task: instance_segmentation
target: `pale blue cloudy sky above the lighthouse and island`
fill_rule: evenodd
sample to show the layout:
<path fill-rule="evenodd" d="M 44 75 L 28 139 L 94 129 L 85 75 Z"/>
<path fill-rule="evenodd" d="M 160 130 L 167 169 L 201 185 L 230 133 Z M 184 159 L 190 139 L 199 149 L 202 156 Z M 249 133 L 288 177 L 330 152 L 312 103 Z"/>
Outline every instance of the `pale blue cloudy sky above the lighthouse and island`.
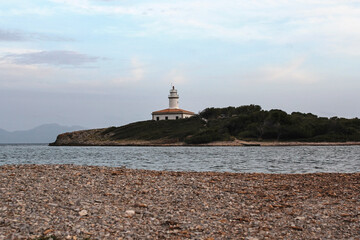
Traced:
<path fill-rule="evenodd" d="M 168 107 L 360 117 L 359 0 L 0 1 L 0 128 Z"/>

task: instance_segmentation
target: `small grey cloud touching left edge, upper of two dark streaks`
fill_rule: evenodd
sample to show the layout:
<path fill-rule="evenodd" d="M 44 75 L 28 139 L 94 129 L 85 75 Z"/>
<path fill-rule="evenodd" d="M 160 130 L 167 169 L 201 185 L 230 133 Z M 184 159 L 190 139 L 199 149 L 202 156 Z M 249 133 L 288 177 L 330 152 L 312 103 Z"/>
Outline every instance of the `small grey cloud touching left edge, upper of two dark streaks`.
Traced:
<path fill-rule="evenodd" d="M 57 36 L 54 34 L 0 29 L 0 42 L 24 42 L 24 41 L 68 42 L 73 40 L 70 38 Z"/>

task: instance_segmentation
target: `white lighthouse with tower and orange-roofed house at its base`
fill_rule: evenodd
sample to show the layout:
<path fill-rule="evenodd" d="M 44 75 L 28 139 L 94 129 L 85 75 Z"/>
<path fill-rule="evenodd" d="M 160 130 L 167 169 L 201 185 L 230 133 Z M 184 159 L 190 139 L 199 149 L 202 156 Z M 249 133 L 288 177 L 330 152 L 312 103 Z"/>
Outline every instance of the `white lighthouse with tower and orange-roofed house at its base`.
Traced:
<path fill-rule="evenodd" d="M 176 120 L 181 118 L 189 118 L 195 113 L 179 108 L 179 95 L 173 86 L 169 95 L 169 108 L 152 112 L 152 120 Z"/>

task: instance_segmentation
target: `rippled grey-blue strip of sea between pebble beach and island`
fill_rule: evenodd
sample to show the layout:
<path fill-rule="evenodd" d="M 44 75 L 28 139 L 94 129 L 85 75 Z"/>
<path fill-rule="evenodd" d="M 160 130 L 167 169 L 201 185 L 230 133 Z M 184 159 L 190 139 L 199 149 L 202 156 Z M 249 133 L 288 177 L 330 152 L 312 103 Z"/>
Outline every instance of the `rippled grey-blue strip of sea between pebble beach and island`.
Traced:
<path fill-rule="evenodd" d="M 0 145 L 0 165 L 77 164 L 262 173 L 359 172 L 360 146 L 48 147 Z"/>

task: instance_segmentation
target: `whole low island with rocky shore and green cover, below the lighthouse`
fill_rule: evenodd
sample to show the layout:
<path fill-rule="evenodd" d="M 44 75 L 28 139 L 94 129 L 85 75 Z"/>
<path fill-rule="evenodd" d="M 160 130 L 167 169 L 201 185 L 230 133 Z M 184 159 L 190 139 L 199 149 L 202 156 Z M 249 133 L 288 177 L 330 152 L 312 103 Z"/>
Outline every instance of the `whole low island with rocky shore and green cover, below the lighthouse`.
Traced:
<path fill-rule="evenodd" d="M 360 145 L 360 119 L 318 117 L 259 105 L 206 108 L 190 118 L 149 120 L 60 134 L 50 146 Z"/>

